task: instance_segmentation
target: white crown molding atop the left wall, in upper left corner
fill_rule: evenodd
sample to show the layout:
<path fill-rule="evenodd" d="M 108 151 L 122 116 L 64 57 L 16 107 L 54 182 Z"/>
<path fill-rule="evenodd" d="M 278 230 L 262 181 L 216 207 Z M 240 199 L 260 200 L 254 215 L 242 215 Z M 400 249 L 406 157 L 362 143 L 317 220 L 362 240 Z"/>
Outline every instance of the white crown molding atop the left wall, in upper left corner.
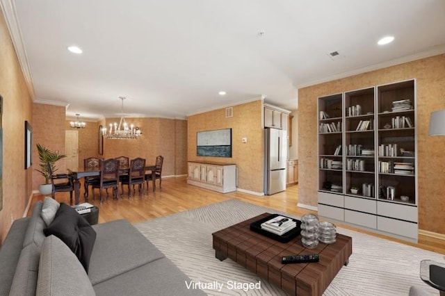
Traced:
<path fill-rule="evenodd" d="M 28 88 L 31 99 L 35 100 L 33 79 L 29 69 L 28 59 L 26 58 L 26 50 L 22 39 L 22 31 L 20 30 L 19 22 L 17 21 L 17 13 L 13 0 L 0 0 L 0 7 L 3 10 L 3 15 L 6 19 L 11 41 L 15 48 L 17 60 L 19 60 L 20 67 Z"/>

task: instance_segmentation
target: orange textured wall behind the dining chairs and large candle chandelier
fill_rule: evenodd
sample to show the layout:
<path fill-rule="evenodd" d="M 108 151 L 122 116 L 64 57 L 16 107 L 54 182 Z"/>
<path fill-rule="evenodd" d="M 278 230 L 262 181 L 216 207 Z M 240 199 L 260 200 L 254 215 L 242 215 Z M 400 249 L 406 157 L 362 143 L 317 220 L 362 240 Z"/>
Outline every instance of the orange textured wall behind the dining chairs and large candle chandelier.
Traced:
<path fill-rule="evenodd" d="M 119 118 L 107 118 L 104 124 L 119 122 Z M 129 124 L 138 126 L 142 135 L 137 140 L 104 139 L 104 158 L 128 156 L 145 158 L 147 164 L 154 164 L 156 156 L 164 157 L 163 176 L 186 174 L 186 151 L 184 137 L 187 124 L 184 120 L 165 118 L 126 118 Z"/>

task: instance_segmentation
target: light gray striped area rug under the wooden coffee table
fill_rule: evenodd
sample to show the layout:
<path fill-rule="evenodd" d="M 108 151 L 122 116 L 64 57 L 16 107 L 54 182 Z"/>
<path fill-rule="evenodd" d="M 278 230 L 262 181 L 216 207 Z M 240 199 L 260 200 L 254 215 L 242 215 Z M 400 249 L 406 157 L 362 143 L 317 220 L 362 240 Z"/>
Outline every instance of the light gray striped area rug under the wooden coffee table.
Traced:
<path fill-rule="evenodd" d="M 195 284 L 208 295 L 286 295 L 231 259 L 219 261 L 212 248 L 211 233 L 266 212 L 280 213 L 231 199 L 135 226 L 191 278 L 186 285 Z M 442 254 L 339 227 L 337 231 L 353 238 L 353 254 L 323 295 L 408 295 L 410 286 L 439 294 L 423 283 L 419 268 L 425 259 L 444 262 Z"/>

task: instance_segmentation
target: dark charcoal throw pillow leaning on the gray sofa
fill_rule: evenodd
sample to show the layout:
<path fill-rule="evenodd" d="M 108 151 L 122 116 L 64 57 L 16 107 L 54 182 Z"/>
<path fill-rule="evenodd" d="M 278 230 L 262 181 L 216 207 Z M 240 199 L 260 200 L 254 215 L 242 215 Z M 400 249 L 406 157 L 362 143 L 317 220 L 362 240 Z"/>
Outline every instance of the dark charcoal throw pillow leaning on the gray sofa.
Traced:
<path fill-rule="evenodd" d="M 65 242 L 88 273 L 96 231 L 74 208 L 67 204 L 60 204 L 54 221 L 49 227 L 43 229 L 43 233 L 45 236 L 51 236 L 51 234 L 57 236 Z"/>

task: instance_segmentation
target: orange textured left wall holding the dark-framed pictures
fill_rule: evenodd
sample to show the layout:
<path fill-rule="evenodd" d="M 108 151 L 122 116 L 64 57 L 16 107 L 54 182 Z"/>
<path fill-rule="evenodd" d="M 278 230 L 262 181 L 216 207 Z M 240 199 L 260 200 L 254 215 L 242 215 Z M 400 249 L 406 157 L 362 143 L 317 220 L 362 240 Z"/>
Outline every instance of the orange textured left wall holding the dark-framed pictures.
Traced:
<path fill-rule="evenodd" d="M 1 10 L 0 44 L 0 95 L 3 97 L 1 245 L 12 221 L 24 215 L 32 194 L 33 178 L 33 167 L 24 169 L 24 121 L 33 121 L 33 103 Z"/>

